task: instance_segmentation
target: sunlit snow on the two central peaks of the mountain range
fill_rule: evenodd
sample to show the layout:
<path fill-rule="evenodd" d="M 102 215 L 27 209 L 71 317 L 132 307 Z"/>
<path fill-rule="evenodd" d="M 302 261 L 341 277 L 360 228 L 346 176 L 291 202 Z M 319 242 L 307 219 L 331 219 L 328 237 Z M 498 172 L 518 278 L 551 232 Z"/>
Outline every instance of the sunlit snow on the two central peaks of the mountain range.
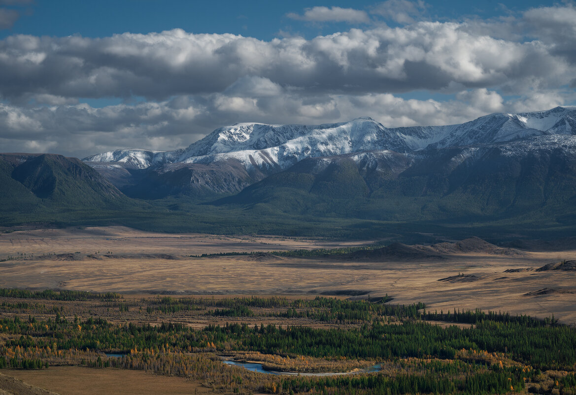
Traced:
<path fill-rule="evenodd" d="M 367 117 L 318 126 L 242 123 L 219 128 L 190 145 L 179 161 L 209 163 L 233 158 L 247 168 L 286 168 L 306 157 L 342 155 L 385 145 L 402 151 L 406 148 L 399 137 Z"/>

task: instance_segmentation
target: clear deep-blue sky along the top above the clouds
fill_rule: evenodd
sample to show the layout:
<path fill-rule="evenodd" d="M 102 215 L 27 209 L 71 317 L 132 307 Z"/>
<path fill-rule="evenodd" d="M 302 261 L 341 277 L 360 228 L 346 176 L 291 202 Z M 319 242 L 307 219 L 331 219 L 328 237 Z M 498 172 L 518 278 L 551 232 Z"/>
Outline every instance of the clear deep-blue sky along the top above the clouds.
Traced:
<path fill-rule="evenodd" d="M 11 34 L 103 37 L 115 33 L 149 33 L 181 28 L 190 33 L 233 33 L 270 40 L 279 32 L 311 38 L 350 28 L 344 23 L 310 23 L 286 17 L 314 6 L 367 10 L 374 1 L 186 1 L 186 0 L 36 0 L 8 5 L 21 16 L 0 37 Z M 437 20 L 494 18 L 530 7 L 550 6 L 543 1 L 443 0 L 427 2 L 427 13 Z M 363 24 L 356 24 L 362 26 Z M 391 23 L 395 25 L 395 23 Z"/>

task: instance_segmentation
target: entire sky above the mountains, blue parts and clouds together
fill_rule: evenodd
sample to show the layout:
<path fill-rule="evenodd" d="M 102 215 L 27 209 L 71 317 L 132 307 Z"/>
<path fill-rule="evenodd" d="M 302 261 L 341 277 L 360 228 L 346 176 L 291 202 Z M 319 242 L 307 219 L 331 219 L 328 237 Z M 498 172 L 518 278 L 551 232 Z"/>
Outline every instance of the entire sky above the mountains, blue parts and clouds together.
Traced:
<path fill-rule="evenodd" d="M 0 0 L 0 152 L 574 105 L 573 1 Z"/>

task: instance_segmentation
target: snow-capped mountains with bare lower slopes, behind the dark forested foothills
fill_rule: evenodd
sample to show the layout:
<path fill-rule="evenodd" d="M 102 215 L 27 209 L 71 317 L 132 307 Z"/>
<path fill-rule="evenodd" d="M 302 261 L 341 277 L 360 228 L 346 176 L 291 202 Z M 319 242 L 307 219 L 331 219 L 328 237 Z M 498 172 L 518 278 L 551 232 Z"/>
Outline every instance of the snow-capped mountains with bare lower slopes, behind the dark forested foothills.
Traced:
<path fill-rule="evenodd" d="M 498 152 L 486 149 L 494 147 Z M 124 193 L 158 198 L 237 193 L 294 165 L 305 163 L 298 168 L 308 171 L 313 163 L 309 171 L 318 171 L 338 157 L 362 171 L 392 176 L 415 169 L 445 173 L 473 161 L 486 164 L 487 152 L 521 158 L 544 147 L 545 155 L 556 148 L 576 151 L 576 107 L 490 114 L 448 126 L 388 128 L 371 118 L 313 126 L 238 123 L 188 148 L 118 149 L 83 160 Z M 312 159 L 322 161 L 305 162 Z"/>

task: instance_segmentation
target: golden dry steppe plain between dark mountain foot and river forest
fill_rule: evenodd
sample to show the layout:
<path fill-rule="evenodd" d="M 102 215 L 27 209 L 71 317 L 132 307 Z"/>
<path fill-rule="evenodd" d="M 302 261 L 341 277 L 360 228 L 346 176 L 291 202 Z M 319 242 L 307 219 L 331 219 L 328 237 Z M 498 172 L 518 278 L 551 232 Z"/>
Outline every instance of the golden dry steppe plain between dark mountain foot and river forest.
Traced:
<path fill-rule="evenodd" d="M 365 298 L 388 294 L 394 298 L 393 303 L 424 302 L 428 310 L 479 308 L 536 317 L 554 314 L 560 322 L 576 323 L 574 270 L 535 271 L 546 264 L 576 259 L 576 245 L 570 243 L 529 251 L 447 250 L 441 257 L 422 258 L 403 255 L 401 251 L 385 257 L 192 256 L 330 249 L 374 241 L 170 235 L 125 227 L 22 229 L 0 234 L 0 259 L 17 257 L 0 262 L 0 287 L 114 291 L 127 296 Z"/>

